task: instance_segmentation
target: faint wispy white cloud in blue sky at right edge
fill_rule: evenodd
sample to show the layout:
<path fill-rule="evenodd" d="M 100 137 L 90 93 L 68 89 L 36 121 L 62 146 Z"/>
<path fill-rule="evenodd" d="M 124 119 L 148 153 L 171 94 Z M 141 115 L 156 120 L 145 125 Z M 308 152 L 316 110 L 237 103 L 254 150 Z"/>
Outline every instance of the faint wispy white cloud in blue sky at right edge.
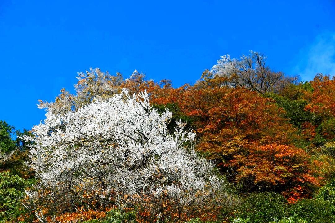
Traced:
<path fill-rule="evenodd" d="M 293 69 L 302 81 L 313 79 L 317 73 L 335 75 L 335 32 L 318 35 L 314 42 L 301 50 L 299 63 Z"/>

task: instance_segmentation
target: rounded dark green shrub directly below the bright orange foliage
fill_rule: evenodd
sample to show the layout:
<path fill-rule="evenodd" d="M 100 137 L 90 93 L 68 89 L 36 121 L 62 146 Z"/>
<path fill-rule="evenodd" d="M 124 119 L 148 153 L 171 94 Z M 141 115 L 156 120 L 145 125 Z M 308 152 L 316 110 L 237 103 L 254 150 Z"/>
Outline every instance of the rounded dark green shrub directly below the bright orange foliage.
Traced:
<path fill-rule="evenodd" d="M 242 218 L 241 222 L 264 223 L 286 217 L 287 210 L 287 202 L 282 195 L 272 192 L 253 193 L 237 210 L 236 217 Z"/>

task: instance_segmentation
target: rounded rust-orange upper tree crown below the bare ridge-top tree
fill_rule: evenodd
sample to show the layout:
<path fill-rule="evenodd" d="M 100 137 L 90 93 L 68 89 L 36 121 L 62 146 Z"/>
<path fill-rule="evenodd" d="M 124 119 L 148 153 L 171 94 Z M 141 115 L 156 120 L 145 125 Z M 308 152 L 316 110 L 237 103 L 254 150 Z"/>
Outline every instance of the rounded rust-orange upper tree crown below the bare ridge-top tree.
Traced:
<path fill-rule="evenodd" d="M 208 112 L 208 122 L 199 128 L 202 142 L 199 150 L 227 160 L 251 142 L 260 144 L 290 143 L 295 130 L 282 118 L 283 110 L 268 98 L 239 88 L 226 94 Z"/>

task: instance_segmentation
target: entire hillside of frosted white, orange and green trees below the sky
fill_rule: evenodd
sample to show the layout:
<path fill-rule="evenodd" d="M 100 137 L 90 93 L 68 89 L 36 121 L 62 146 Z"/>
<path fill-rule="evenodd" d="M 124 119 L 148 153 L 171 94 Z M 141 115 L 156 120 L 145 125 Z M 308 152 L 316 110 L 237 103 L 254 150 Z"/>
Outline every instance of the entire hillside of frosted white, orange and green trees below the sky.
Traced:
<path fill-rule="evenodd" d="M 0 222 L 335 222 L 335 77 L 251 51 L 177 88 L 77 78 L 32 129 L 0 121 Z"/>

